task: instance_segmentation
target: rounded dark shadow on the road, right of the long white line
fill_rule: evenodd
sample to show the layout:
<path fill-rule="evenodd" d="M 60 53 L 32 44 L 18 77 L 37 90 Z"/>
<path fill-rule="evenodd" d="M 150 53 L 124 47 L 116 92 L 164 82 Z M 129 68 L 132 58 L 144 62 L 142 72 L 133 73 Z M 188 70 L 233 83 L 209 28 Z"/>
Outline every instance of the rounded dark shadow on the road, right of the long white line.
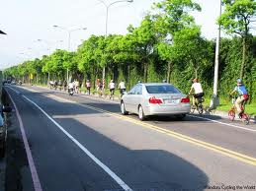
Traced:
<path fill-rule="evenodd" d="M 118 134 L 107 137 L 100 130 L 96 131 L 95 128 L 86 126 L 73 118 L 56 120 L 61 125 L 67 124 L 68 132 L 125 180 L 133 191 L 200 191 L 204 190 L 209 183 L 208 176 L 202 169 L 170 152 L 131 150 L 124 143 L 110 139 Z M 132 142 L 141 142 L 132 136 L 128 139 Z M 88 190 L 98 190 L 97 185 L 101 185 L 101 190 L 104 191 L 120 190 L 108 184 L 106 181 L 91 182 L 91 189 Z"/>

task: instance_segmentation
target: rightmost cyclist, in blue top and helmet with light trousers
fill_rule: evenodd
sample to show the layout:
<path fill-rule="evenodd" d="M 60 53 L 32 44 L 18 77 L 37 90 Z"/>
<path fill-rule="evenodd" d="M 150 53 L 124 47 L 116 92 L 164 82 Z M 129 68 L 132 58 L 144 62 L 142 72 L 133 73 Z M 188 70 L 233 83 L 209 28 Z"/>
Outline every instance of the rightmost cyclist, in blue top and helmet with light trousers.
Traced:
<path fill-rule="evenodd" d="M 230 96 L 232 96 L 234 93 L 238 93 L 238 97 L 236 98 L 234 105 L 235 105 L 239 115 L 241 115 L 243 112 L 243 109 L 241 106 L 246 100 L 249 99 L 249 95 L 248 95 L 248 92 L 247 92 L 245 86 L 242 84 L 241 79 L 237 79 L 236 83 L 237 83 L 237 86 L 230 93 Z"/>

